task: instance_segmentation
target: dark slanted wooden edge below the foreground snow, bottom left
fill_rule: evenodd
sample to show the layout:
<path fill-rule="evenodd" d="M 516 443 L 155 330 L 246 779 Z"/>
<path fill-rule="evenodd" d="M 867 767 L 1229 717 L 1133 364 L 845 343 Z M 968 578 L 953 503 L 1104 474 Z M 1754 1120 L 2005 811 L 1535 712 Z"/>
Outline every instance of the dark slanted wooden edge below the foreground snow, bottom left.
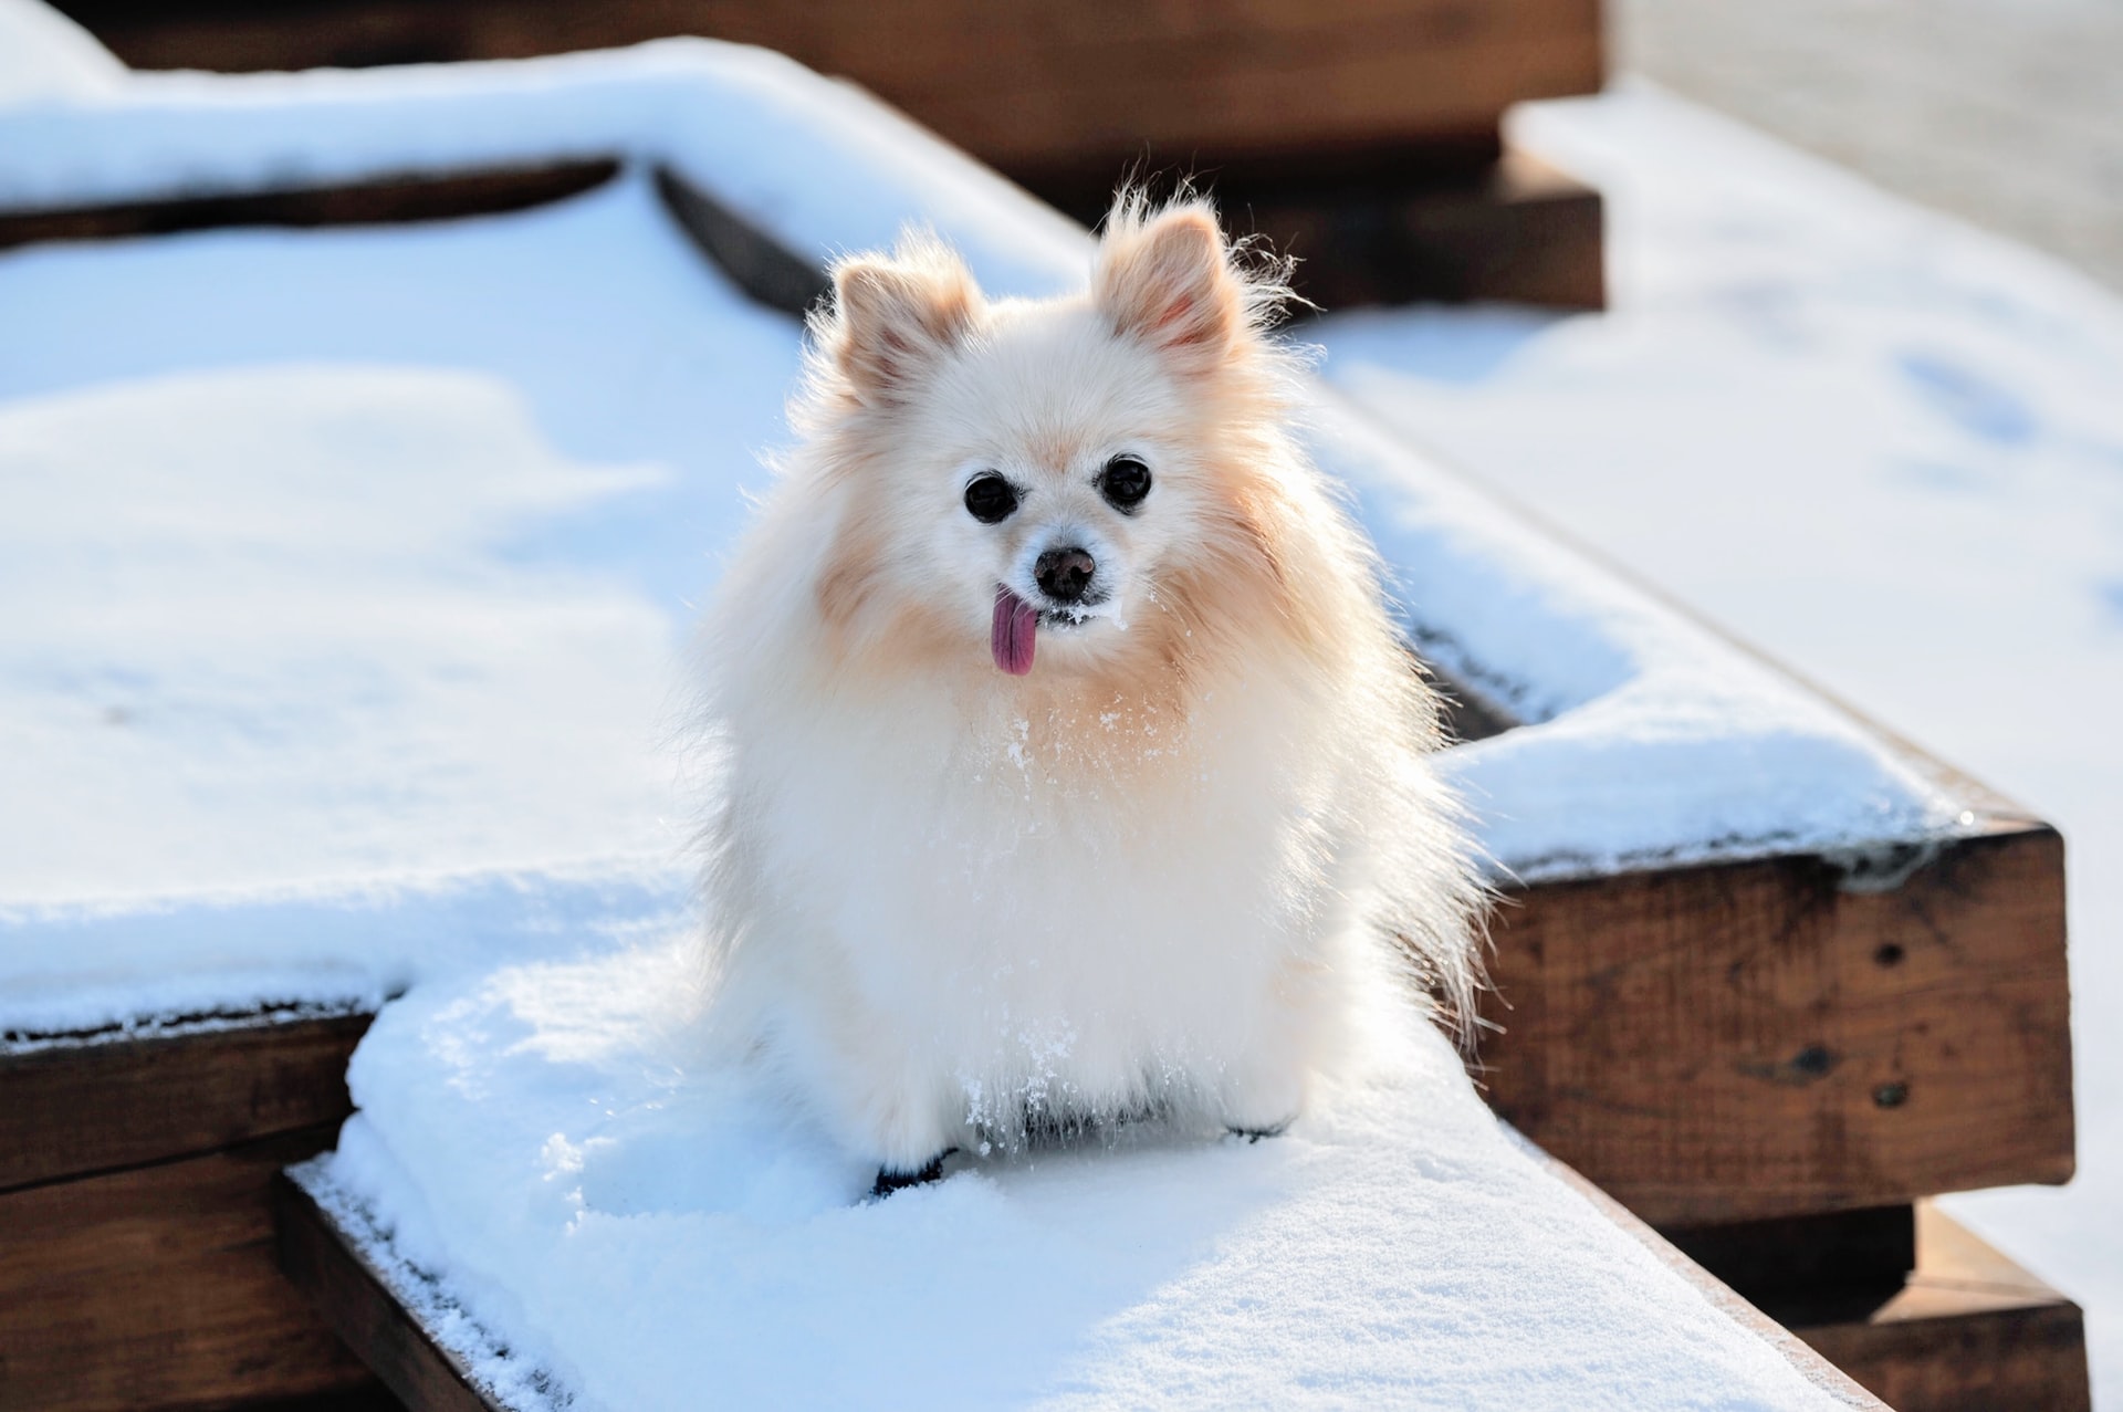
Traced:
<path fill-rule="evenodd" d="M 420 1323 L 405 1293 L 420 1272 L 386 1270 L 325 1210 L 312 1164 L 274 1176 L 274 1253 L 280 1272 L 369 1372 L 412 1412 L 533 1412 L 499 1401 L 469 1363 Z M 376 1234 L 374 1246 L 384 1246 Z"/>

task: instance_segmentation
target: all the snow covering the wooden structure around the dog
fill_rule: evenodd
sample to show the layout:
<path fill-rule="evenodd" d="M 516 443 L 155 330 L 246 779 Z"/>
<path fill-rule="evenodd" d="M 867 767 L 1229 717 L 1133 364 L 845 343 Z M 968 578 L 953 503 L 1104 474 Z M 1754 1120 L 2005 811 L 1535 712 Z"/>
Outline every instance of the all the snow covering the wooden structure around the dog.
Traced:
<path fill-rule="evenodd" d="M 125 81 L 0 110 L 0 202 L 45 206 L 618 153 L 813 257 L 913 214 L 1000 293 L 1087 255 L 860 96 L 711 45 Z M 34 800 L 0 815 L 0 1028 L 410 987 L 316 1189 L 518 1350 L 497 1378 L 690 1406 L 713 1346 L 730 1387 L 826 1399 L 1828 1399 L 1427 1034 L 1282 1142 L 1123 1134 L 864 1208 L 692 1074 L 652 1004 L 688 890 L 662 733 L 796 331 L 639 168 L 456 227 L 28 251 L 0 308 L 0 563 L 36 603 L 0 643 L 36 741 L 0 762 Z M 1323 401 L 1412 637 L 1524 722 L 1454 764 L 1501 866 L 1856 866 L 1981 826 L 1979 792 Z"/>

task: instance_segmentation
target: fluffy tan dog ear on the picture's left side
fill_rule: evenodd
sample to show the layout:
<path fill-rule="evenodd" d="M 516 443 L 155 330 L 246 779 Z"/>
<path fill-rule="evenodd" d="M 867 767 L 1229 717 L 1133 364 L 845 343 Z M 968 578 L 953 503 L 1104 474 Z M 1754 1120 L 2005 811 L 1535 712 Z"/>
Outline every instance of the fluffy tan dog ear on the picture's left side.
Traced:
<path fill-rule="evenodd" d="M 856 255 L 832 268 L 834 316 L 826 344 L 856 397 L 890 406 L 972 329 L 981 291 L 940 244 L 898 255 Z"/>

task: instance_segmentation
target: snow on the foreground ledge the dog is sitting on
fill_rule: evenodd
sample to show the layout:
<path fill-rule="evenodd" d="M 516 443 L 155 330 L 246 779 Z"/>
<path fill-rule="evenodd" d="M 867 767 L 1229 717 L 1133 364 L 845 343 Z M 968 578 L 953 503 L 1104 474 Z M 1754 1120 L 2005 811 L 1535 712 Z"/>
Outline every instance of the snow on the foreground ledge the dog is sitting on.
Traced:
<path fill-rule="evenodd" d="M 692 1408 L 703 1378 L 773 1406 L 1839 1406 L 1514 1142 L 1425 1026 L 1380 1019 L 1276 1140 L 1121 1130 L 862 1204 L 868 1168 L 692 1062 L 686 964 L 416 989 L 306 1174 L 514 1406 Z"/>

